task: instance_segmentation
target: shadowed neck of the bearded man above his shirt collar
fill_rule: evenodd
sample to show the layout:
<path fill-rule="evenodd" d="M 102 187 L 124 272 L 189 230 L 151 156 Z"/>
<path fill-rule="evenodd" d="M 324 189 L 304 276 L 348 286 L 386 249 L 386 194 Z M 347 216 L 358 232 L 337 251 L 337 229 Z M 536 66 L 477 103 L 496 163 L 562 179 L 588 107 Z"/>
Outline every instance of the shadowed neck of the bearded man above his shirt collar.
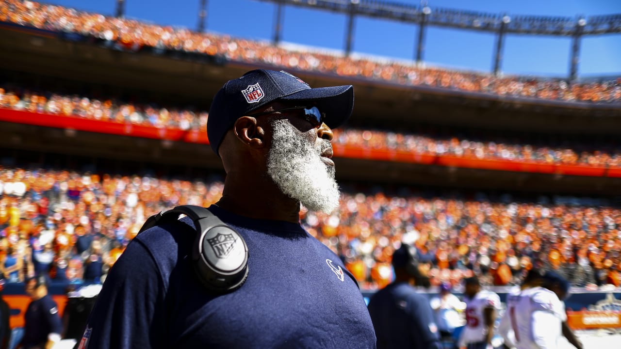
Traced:
<path fill-rule="evenodd" d="M 222 197 L 216 203 L 229 212 L 254 219 L 299 223 L 300 203 L 283 194 L 266 176 L 228 173 Z"/>

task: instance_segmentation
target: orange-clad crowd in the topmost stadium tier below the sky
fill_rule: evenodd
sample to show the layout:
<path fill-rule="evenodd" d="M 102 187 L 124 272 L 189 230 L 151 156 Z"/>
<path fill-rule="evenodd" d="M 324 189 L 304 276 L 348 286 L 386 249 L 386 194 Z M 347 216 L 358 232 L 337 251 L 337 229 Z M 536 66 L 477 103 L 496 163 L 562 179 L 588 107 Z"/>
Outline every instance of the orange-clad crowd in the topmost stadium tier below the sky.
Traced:
<path fill-rule="evenodd" d="M 134 52 L 150 47 L 201 53 L 288 70 L 507 97 L 588 102 L 619 102 L 621 99 L 621 78 L 569 84 L 562 79 L 495 77 L 486 73 L 417 66 L 388 58 L 347 57 L 343 53 L 330 53 L 327 50 L 285 48 L 270 42 L 202 34 L 189 29 L 147 24 L 34 1 L 3 0 L 0 2 L 0 21 L 93 37 L 111 47 Z"/>

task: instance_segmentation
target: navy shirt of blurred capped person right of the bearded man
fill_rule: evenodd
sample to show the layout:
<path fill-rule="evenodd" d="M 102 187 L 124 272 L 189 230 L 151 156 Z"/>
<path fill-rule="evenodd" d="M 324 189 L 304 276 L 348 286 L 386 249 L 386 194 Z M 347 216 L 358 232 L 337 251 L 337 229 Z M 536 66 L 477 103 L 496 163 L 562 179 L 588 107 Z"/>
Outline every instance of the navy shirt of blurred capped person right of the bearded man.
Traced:
<path fill-rule="evenodd" d="M 429 299 L 407 283 L 392 283 L 369 301 L 378 349 L 441 349 Z"/>

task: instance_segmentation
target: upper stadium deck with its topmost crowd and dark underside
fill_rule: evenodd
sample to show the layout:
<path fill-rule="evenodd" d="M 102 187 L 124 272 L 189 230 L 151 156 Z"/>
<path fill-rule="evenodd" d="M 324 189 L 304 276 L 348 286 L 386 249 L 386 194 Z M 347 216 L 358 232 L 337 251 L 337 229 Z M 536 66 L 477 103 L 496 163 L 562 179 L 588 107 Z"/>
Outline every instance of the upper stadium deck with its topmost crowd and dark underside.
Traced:
<path fill-rule="evenodd" d="M 288 50 L 282 45 L 197 34 L 29 1 L 0 2 L 0 18 L 4 19 L 0 20 L 0 60 L 7 70 L 59 81 L 73 79 L 83 86 L 95 83 L 115 90 L 133 89 L 151 94 L 152 101 L 174 99 L 207 110 L 212 96 L 231 76 L 253 68 L 286 69 L 314 87 L 353 84 L 356 107 L 350 122 L 360 120 L 381 125 L 381 129 L 433 124 L 570 137 L 621 132 L 619 81 L 497 80 L 487 74 Z M 132 41 L 136 35 L 132 30 L 141 34 L 135 38 L 138 42 Z M 359 71 L 364 66 L 370 75 Z M 463 89 L 462 83 L 486 87 Z M 565 91 L 567 99 L 558 99 L 560 95 L 553 91 Z M 586 101 L 586 95 L 594 91 L 598 97 Z M 579 100 L 578 94 L 585 100 Z"/>

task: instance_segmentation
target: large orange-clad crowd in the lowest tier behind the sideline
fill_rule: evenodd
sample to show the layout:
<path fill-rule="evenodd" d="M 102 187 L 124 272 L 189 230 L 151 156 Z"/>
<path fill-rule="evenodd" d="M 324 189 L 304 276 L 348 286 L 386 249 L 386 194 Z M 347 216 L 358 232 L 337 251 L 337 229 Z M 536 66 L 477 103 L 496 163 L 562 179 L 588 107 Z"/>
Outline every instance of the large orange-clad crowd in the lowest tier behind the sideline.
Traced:
<path fill-rule="evenodd" d="M 99 282 L 144 220 L 179 204 L 209 206 L 219 179 L 188 181 L 0 167 L 0 271 L 23 281 L 48 273 L 64 283 Z M 430 196 L 402 188 L 343 190 L 331 215 L 301 211 L 311 235 L 332 248 L 366 289 L 391 281 L 401 241 L 417 247 L 430 283 L 516 283 L 532 266 L 574 284 L 620 284 L 621 209 Z"/>

